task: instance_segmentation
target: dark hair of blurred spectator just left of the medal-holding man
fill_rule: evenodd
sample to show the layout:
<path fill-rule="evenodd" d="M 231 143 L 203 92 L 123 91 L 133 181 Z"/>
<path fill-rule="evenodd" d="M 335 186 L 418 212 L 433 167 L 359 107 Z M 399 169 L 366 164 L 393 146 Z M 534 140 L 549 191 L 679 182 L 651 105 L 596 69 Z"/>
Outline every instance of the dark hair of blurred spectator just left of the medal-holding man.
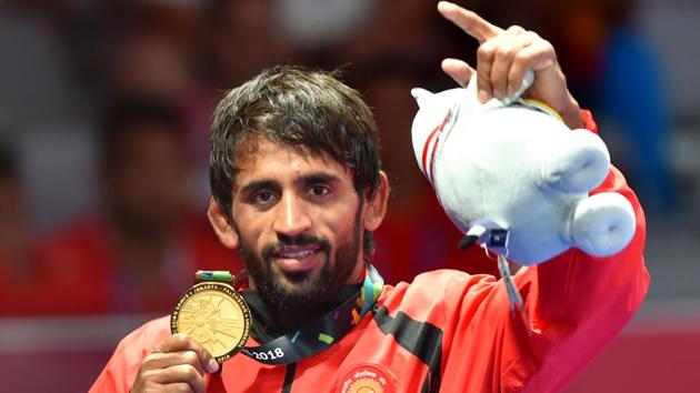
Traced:
<path fill-rule="evenodd" d="M 103 170 L 114 167 L 123 153 L 123 143 L 139 125 L 160 124 L 159 132 L 187 139 L 182 114 L 174 107 L 153 99 L 124 97 L 114 100 L 102 118 L 99 140 Z"/>

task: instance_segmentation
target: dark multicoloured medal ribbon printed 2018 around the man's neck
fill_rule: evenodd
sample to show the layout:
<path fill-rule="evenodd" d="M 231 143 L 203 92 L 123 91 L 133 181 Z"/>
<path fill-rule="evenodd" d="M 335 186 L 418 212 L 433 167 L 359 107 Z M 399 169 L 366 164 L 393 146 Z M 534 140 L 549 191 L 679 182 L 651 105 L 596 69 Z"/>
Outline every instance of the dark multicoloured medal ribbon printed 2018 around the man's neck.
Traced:
<path fill-rule="evenodd" d="M 197 272 L 198 281 L 231 282 L 232 279 L 229 272 Z M 264 364 L 289 364 L 313 356 L 340 341 L 362 320 L 379 299 L 383 285 L 377 269 L 368 263 L 362 288 L 342 304 L 297 331 L 259 346 L 246 346 L 241 353 Z"/>

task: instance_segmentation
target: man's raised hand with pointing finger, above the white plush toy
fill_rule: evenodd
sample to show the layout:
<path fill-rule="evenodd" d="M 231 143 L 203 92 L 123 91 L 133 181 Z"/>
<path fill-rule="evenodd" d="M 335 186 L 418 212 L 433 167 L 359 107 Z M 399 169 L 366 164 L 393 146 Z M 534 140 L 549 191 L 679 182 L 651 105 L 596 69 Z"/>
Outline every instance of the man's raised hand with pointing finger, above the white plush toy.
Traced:
<path fill-rule="evenodd" d="M 460 85 L 466 85 L 477 72 L 479 101 L 512 94 L 520 88 L 526 71 L 531 69 L 534 82 L 524 97 L 550 105 L 569 128 L 582 127 L 579 104 L 567 88 L 567 79 L 549 41 L 519 26 L 503 30 L 476 12 L 447 1 L 438 3 L 438 11 L 480 43 L 477 70 L 462 60 L 442 61 L 442 70 Z"/>

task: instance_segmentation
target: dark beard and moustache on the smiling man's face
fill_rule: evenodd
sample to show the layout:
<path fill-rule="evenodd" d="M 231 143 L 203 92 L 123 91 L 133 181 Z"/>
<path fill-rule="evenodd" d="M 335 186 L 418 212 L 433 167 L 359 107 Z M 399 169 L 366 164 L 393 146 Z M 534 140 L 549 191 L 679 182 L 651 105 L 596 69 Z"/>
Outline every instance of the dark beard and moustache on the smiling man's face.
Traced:
<path fill-rule="evenodd" d="M 247 246 L 238 226 L 233 225 L 240 239 L 239 254 L 262 300 L 278 310 L 309 310 L 322 305 L 337 293 L 358 263 L 362 234 L 361 211 L 360 205 L 352 233 L 338 236 L 341 243 L 334 252 L 328 239 L 301 234 L 293 238 L 280 235 L 278 242 L 263 246 L 257 253 Z M 307 272 L 277 269 L 273 254 L 290 245 L 316 245 L 323 259 L 320 269 Z"/>

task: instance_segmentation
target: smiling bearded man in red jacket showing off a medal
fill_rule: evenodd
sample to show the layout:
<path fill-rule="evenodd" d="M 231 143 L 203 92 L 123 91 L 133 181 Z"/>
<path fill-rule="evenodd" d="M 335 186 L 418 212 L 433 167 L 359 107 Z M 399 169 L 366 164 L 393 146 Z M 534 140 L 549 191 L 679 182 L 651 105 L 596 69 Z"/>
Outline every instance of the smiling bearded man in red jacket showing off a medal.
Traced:
<path fill-rule="evenodd" d="M 451 3 L 438 8 L 481 41 L 477 70 L 443 62 L 459 83 L 478 72 L 480 99 L 502 98 L 530 68 L 532 98 L 571 128 L 594 128 L 547 41 L 517 27 L 503 31 Z M 366 258 L 389 187 L 370 111 L 357 92 L 326 73 L 268 70 L 227 94 L 212 130 L 209 219 L 249 271 L 249 344 L 303 329 L 352 299 L 368 278 L 374 282 Z M 614 170 L 600 190 L 632 202 L 634 239 L 614 258 L 570 250 L 523 269 L 514 278 L 523 318 L 509 313 L 507 291 L 492 276 L 434 271 L 383 286 L 347 335 L 283 365 L 244 354 L 218 365 L 193 340 L 170 335 L 167 319 L 152 321 L 120 343 L 93 391 L 558 390 L 619 332 L 648 285 L 639 203 Z"/>

